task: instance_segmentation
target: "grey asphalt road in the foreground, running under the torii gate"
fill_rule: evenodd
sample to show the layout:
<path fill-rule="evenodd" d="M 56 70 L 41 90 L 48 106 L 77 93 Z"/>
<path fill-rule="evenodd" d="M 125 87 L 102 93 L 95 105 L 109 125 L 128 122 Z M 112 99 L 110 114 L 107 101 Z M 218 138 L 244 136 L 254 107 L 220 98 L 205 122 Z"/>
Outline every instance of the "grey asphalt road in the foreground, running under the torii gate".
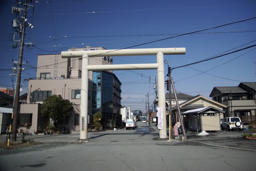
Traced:
<path fill-rule="evenodd" d="M 68 136 L 79 137 L 62 135 Z M 148 124 L 138 123 L 135 130 L 91 133 L 88 137 L 91 138 L 88 143 L 45 143 L 22 149 L 0 149 L 1 170 L 255 171 L 256 168 L 256 152 L 193 142 L 157 141 L 158 133 Z"/>

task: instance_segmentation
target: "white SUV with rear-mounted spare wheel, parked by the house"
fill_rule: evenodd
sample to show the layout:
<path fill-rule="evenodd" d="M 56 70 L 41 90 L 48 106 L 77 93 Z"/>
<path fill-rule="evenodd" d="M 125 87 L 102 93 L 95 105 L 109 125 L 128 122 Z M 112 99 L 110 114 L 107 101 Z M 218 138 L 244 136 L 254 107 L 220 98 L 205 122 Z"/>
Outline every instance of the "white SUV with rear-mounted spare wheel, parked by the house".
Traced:
<path fill-rule="evenodd" d="M 242 121 L 239 117 L 227 117 L 224 119 L 223 123 L 221 124 L 221 129 L 227 129 L 228 131 L 238 129 L 243 129 Z"/>

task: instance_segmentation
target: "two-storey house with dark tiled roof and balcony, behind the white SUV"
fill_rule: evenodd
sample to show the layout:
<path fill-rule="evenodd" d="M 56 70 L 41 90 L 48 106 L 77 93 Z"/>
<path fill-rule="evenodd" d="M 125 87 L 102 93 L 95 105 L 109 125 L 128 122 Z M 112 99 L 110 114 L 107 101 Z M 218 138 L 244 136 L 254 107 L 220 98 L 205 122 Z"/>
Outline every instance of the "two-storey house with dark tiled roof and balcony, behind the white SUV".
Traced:
<path fill-rule="evenodd" d="M 227 106 L 225 117 L 240 117 L 244 123 L 256 120 L 256 82 L 241 82 L 234 87 L 214 87 L 210 97 Z"/>

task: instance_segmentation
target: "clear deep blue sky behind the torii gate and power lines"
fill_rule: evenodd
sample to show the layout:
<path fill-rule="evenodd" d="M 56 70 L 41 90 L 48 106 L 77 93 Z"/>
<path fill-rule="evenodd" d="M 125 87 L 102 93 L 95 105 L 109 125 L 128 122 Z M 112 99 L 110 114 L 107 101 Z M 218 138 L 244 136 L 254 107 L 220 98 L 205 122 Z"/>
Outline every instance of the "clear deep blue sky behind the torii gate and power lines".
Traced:
<path fill-rule="evenodd" d="M 67 48 L 87 45 L 119 49 L 173 36 L 161 34 L 181 34 L 256 16 L 256 1 L 254 0 L 51 0 L 51 3 L 50 1 L 46 2 L 40 0 L 39 3 L 34 3 L 33 20 L 30 18 L 32 17 L 32 10 L 28 11 L 28 14 L 30 14 L 27 16 L 28 21 L 31 22 L 32 20 L 31 23 L 34 28 L 27 29 L 25 42 L 34 42 L 36 47 L 44 50 L 35 47 L 25 48 L 24 57 L 32 66 L 37 65 L 38 54 L 52 54 L 53 49 L 59 50 L 59 53 Z M 2 21 L 0 28 L 1 69 L 10 69 L 12 59 L 17 60 L 17 49 L 11 49 L 10 44 L 13 42 L 7 41 L 10 40 L 9 34 L 13 33 L 11 21 L 15 17 L 11 13 L 12 6 L 16 5 L 0 2 L 0 18 Z M 212 33 L 238 30 L 246 32 Z M 209 58 L 256 40 L 255 31 L 256 20 L 252 20 L 204 31 L 207 34 L 186 35 L 134 48 L 186 47 L 186 55 L 166 55 L 164 57 L 165 60 L 169 60 L 171 67 L 177 67 Z M 146 34 L 154 35 L 145 36 Z M 117 35 L 122 36 L 116 37 Z M 56 39 L 65 36 L 70 38 L 53 41 L 55 36 Z M 240 48 L 253 44 L 256 44 L 256 41 Z M 60 50 L 61 48 L 64 49 Z M 255 82 L 256 50 L 252 49 L 191 65 L 190 67 L 193 68 L 174 69 L 171 76 L 175 81 L 176 91 L 190 95 L 202 94 L 209 97 L 213 87 L 237 86 L 240 81 Z M 250 50 L 252 51 L 248 52 Z M 232 60 L 244 53 L 246 54 Z M 218 77 L 206 74 L 191 77 L 199 74 L 195 69 L 204 72 L 229 60 L 232 61 L 207 72 Z M 155 62 L 156 56 L 113 57 L 113 64 Z M 25 72 L 22 73 L 22 82 L 24 79 L 36 76 L 35 69 L 25 70 Z M 165 65 L 165 72 L 167 74 L 167 64 Z M 0 86 L 12 87 L 10 71 L 0 71 L 0 73 Z M 147 93 L 149 93 L 149 105 L 152 105 L 155 98 L 153 83 L 155 82 L 154 77 L 157 76 L 156 70 L 114 71 L 113 73 L 122 82 L 122 105 L 131 105 L 132 109 L 144 112 L 147 98 L 145 95 Z M 148 77 L 152 77 L 150 82 Z M 26 93 L 27 84 L 28 81 L 25 81 L 22 93 Z"/>

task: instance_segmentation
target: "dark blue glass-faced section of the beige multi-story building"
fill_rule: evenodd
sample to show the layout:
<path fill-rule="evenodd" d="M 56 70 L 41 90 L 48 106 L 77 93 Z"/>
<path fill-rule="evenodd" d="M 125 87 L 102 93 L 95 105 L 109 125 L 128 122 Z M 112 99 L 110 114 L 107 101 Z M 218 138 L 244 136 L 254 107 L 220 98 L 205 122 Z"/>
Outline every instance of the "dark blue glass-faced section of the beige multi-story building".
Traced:
<path fill-rule="evenodd" d="M 108 71 L 93 72 L 92 114 L 102 113 L 103 128 L 121 127 L 121 82 Z"/>

